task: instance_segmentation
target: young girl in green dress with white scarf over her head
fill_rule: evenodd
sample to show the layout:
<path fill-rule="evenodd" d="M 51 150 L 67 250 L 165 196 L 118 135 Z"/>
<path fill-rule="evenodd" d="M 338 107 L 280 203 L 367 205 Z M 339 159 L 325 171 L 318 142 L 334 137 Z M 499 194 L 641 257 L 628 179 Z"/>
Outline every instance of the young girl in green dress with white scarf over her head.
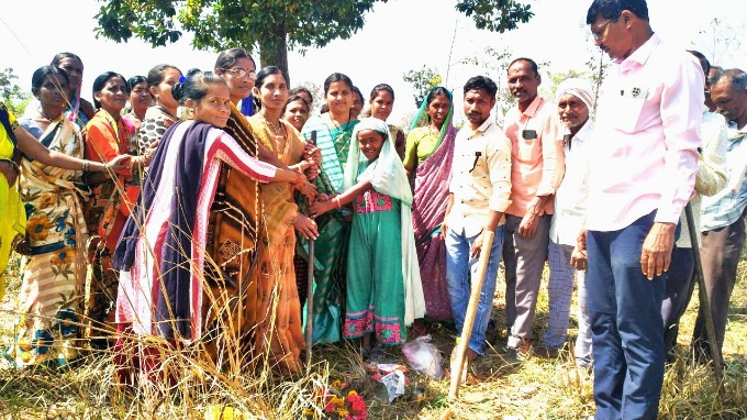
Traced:
<path fill-rule="evenodd" d="M 425 313 L 415 242 L 412 191 L 387 124 L 374 118 L 356 125 L 345 167 L 345 192 L 321 197 L 310 210 L 323 214 L 353 203 L 344 335 L 401 344 L 406 327 Z"/>

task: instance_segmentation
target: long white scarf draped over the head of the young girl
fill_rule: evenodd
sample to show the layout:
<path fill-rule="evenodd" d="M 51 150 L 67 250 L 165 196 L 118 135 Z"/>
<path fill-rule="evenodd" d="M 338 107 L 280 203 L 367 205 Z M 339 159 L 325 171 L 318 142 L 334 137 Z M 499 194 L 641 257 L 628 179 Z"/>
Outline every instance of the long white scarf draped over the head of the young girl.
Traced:
<path fill-rule="evenodd" d="M 369 163 L 360 152 L 358 133 L 374 130 L 383 135 L 383 145 L 379 157 Z M 366 169 L 358 175 L 360 168 Z M 425 297 L 420 277 L 417 252 L 415 251 L 415 234 L 412 229 L 412 190 L 408 181 L 404 165 L 397 154 L 394 143 L 389 135 L 387 123 L 375 119 L 364 118 L 353 130 L 350 151 L 345 165 L 345 189 L 359 181 L 368 180 L 377 192 L 400 200 L 401 243 L 402 243 L 402 279 L 404 287 L 404 323 L 410 325 L 415 319 L 425 317 Z"/>

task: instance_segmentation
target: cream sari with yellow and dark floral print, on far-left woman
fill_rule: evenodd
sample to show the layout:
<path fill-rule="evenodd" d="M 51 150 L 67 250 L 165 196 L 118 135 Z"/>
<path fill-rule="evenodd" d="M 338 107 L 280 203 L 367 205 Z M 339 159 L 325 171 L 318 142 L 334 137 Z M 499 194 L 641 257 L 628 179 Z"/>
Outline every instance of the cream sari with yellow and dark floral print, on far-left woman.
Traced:
<path fill-rule="evenodd" d="M 47 148 L 82 158 L 80 133 L 69 120 L 57 119 L 44 131 L 33 120 L 21 123 Z M 80 346 L 76 324 L 80 322 L 88 239 L 79 198 L 87 194 L 78 184 L 82 172 L 29 158 L 21 166 L 31 251 L 18 297 L 15 339 L 7 356 L 18 367 L 47 361 L 64 365 L 77 356 Z"/>

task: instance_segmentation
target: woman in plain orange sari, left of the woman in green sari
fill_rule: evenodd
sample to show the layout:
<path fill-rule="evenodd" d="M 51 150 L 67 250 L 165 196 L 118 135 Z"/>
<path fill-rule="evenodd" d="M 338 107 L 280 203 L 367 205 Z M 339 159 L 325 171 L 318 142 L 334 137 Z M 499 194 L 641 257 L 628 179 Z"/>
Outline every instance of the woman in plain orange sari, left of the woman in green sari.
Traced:
<path fill-rule="evenodd" d="M 303 172 L 310 166 L 303 159 L 305 143 L 299 132 L 282 119 L 288 86 L 278 67 L 259 70 L 254 97 L 259 99 L 260 110 L 248 119 L 252 134 L 289 168 Z M 301 371 L 303 349 L 301 307 L 293 270 L 296 230 L 311 239 L 316 239 L 319 232 L 313 220 L 299 213 L 291 187 L 287 183 L 260 185 L 264 215 L 256 276 L 259 317 L 255 343 L 260 354 L 268 350 L 269 343 L 270 363 L 277 364 L 283 372 L 296 374 Z"/>

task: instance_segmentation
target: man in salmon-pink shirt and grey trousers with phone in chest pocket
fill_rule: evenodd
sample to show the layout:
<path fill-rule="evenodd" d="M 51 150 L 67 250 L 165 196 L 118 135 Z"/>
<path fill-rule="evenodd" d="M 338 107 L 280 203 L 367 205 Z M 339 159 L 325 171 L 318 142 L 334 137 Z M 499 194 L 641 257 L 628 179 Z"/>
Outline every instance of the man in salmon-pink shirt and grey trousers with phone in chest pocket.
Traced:
<path fill-rule="evenodd" d="M 509 89 L 516 107 L 503 121 L 511 140 L 511 206 L 505 211 L 505 311 L 509 353 L 529 351 L 532 323 L 547 257 L 553 195 L 565 169 L 562 126 L 555 103 L 540 98 L 537 64 L 516 58 L 509 66 Z"/>

